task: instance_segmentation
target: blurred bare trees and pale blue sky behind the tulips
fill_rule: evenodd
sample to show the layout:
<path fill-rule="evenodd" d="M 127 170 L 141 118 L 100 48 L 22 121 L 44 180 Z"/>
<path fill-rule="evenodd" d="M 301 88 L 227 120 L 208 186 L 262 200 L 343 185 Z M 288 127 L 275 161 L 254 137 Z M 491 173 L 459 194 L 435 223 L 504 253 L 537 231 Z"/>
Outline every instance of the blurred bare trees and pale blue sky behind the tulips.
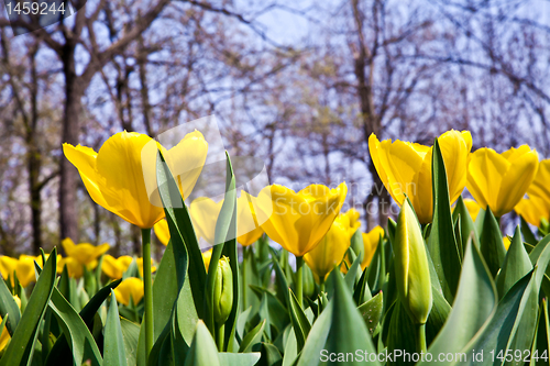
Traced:
<path fill-rule="evenodd" d="M 470 130 L 473 149 L 550 155 L 548 1 L 89 0 L 19 36 L 0 8 L 3 254 L 66 236 L 139 249 L 61 148 L 98 151 L 122 130 L 216 114 L 230 154 L 263 158 L 272 182 L 345 180 L 348 207 L 371 212 L 364 230 L 391 206 L 373 132 L 431 144 Z"/>

